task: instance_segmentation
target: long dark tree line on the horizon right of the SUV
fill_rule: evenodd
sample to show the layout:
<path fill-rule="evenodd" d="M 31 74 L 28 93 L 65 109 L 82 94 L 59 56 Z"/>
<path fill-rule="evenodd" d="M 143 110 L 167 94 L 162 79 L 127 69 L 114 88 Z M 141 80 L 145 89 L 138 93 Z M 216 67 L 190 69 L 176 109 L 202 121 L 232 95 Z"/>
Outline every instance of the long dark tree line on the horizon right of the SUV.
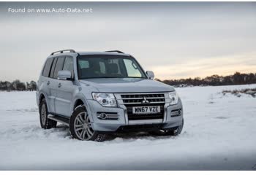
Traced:
<path fill-rule="evenodd" d="M 159 82 L 164 82 L 167 85 L 173 85 L 175 87 L 187 87 L 187 86 L 218 86 L 218 85 L 246 85 L 256 83 L 256 74 L 241 74 L 236 72 L 233 75 L 228 76 L 219 76 L 217 74 L 211 75 L 201 79 L 200 77 L 196 78 L 187 78 L 187 79 L 165 79 L 160 80 L 156 79 Z"/>

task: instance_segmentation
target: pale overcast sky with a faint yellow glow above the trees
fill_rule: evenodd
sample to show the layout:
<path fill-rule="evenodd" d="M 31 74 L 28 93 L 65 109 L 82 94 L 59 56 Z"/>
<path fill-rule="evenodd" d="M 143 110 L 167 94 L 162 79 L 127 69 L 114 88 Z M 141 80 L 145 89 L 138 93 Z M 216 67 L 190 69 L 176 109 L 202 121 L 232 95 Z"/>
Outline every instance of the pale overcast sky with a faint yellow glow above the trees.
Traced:
<path fill-rule="evenodd" d="M 8 8 L 92 8 L 12 13 Z M 255 2 L 0 2 L 0 80 L 37 80 L 50 52 L 121 50 L 157 78 L 256 73 Z"/>

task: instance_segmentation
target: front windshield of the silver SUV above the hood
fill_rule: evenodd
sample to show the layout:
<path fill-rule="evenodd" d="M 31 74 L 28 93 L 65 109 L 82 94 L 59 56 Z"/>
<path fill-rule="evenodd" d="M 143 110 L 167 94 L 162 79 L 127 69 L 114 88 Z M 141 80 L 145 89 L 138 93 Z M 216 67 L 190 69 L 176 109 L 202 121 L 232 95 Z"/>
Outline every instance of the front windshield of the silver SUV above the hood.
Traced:
<path fill-rule="evenodd" d="M 78 56 L 79 79 L 89 78 L 146 78 L 134 58 L 119 55 Z"/>

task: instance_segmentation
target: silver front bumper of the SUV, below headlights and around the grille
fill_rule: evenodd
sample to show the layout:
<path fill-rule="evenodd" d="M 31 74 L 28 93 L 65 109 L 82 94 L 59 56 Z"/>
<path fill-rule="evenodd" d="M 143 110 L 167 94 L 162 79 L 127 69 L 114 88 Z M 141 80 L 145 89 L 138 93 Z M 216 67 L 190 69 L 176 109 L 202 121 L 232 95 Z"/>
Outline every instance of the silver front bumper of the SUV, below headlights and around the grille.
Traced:
<path fill-rule="evenodd" d="M 158 126 L 159 128 L 175 128 L 178 125 L 182 124 L 183 120 L 183 108 L 181 104 L 181 100 L 178 100 L 178 104 L 176 105 L 167 105 L 165 104 L 165 114 L 162 120 L 128 120 L 127 117 L 127 109 L 124 105 L 120 105 L 118 107 L 104 107 L 99 104 L 97 101 L 89 100 L 89 112 L 91 113 L 91 120 L 93 122 L 92 127 L 95 131 L 105 131 L 105 132 L 116 132 L 119 131 L 124 126 Z M 171 117 L 171 112 L 176 111 L 177 109 L 181 109 L 180 114 L 175 117 Z M 102 120 L 97 117 L 100 112 L 117 114 L 117 120 Z"/>

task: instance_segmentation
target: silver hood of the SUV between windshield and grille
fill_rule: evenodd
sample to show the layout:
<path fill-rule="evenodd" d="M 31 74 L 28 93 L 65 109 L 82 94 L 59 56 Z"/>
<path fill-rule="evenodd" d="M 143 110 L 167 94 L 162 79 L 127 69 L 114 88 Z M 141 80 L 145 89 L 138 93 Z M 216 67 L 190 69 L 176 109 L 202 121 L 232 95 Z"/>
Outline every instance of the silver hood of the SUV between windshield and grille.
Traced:
<path fill-rule="evenodd" d="M 173 91 L 174 88 L 162 82 L 140 78 L 80 79 L 82 85 L 91 85 L 102 93 L 153 93 Z"/>

